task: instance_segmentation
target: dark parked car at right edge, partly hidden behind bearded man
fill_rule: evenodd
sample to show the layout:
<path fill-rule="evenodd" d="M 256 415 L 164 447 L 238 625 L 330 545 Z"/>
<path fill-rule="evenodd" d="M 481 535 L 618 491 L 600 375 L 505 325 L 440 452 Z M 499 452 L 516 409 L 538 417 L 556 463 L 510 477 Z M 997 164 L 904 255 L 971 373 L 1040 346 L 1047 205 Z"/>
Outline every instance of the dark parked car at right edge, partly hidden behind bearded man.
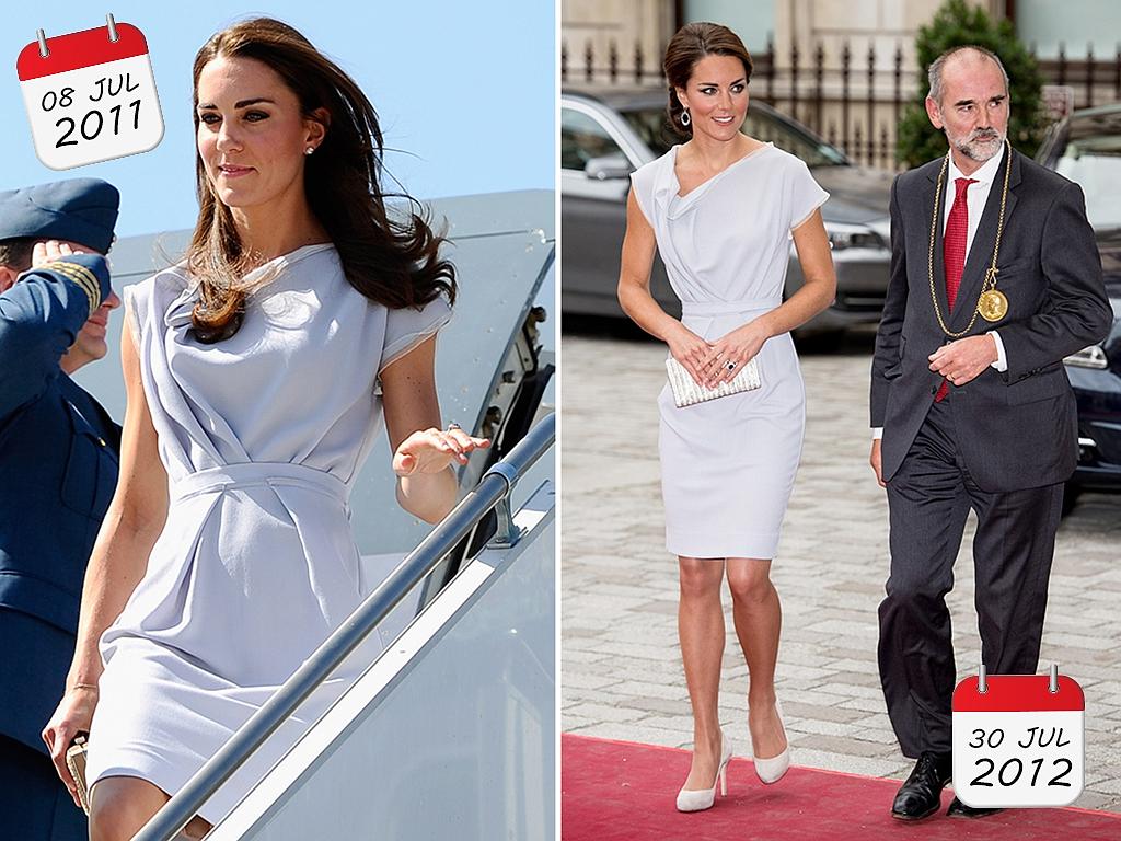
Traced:
<path fill-rule="evenodd" d="M 1078 400 L 1069 509 L 1084 488 L 1121 491 L 1121 104 L 1075 111 L 1051 127 L 1036 159 L 1082 186 L 1113 305 L 1105 341 L 1065 360 Z"/>

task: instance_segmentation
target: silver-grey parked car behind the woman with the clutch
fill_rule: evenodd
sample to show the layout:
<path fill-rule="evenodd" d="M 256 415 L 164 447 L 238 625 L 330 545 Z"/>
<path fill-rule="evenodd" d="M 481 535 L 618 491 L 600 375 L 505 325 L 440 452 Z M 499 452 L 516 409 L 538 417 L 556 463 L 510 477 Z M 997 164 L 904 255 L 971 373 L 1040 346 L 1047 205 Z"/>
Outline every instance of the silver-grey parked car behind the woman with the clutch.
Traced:
<path fill-rule="evenodd" d="M 891 173 L 854 166 L 844 153 L 769 105 L 752 101 L 743 131 L 806 161 L 831 197 L 822 216 L 833 247 L 837 295 L 798 335 L 876 324 L 883 309 L 891 249 Z M 680 142 L 666 118 L 666 93 L 630 89 L 565 90 L 560 95 L 560 228 L 565 248 L 560 308 L 622 316 L 615 299 L 627 221 L 629 175 Z M 749 198 L 744 198 L 749 201 Z M 786 295 L 803 284 L 791 241 Z M 655 261 L 655 298 L 674 315 L 680 304 Z"/>

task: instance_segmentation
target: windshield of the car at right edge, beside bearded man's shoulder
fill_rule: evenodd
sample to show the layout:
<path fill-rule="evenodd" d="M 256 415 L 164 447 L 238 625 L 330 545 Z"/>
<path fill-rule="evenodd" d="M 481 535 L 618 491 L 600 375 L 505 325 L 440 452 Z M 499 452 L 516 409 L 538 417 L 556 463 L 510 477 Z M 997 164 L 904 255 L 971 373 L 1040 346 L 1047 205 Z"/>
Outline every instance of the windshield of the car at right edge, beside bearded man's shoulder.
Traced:
<path fill-rule="evenodd" d="M 1111 124 L 1112 123 L 1112 124 Z M 1121 228 L 1121 120 L 1073 120 L 1063 155 L 1055 165 L 1059 175 L 1077 182 L 1086 194 L 1090 224 L 1102 230 Z"/>

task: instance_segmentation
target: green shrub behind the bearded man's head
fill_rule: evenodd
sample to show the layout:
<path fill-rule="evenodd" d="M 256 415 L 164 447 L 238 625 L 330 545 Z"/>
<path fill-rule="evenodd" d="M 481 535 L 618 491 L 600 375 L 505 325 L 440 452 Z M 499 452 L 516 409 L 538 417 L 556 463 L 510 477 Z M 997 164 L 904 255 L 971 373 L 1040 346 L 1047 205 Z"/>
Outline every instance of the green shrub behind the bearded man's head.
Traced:
<path fill-rule="evenodd" d="M 984 9 L 965 0 L 947 0 L 929 24 L 919 27 L 915 39 L 919 64 L 918 91 L 914 102 L 904 107 L 896 136 L 897 157 L 908 167 L 946 154 L 946 136 L 934 128 L 926 115 L 926 70 L 947 49 L 963 44 L 976 44 L 1000 56 L 1011 87 L 1008 139 L 1028 156 L 1035 155 L 1039 148 L 1046 120 L 1040 98 L 1044 78 L 1035 57 L 1016 37 L 1011 21 L 993 24 Z"/>

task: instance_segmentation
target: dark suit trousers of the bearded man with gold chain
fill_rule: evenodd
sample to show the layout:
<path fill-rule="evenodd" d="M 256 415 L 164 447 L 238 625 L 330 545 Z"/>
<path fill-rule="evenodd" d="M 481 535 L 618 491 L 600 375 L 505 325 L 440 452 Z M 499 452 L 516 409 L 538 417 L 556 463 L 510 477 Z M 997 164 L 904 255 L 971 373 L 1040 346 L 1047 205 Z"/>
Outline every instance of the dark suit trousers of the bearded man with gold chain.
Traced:
<path fill-rule="evenodd" d="M 933 404 L 888 482 L 891 573 L 880 604 L 880 681 L 905 756 L 949 752 L 957 681 L 949 611 L 965 519 L 973 538 L 981 658 L 989 674 L 1035 674 L 1063 486 L 981 490 L 955 445 L 953 397 Z M 970 672 L 976 668 L 970 664 Z"/>

